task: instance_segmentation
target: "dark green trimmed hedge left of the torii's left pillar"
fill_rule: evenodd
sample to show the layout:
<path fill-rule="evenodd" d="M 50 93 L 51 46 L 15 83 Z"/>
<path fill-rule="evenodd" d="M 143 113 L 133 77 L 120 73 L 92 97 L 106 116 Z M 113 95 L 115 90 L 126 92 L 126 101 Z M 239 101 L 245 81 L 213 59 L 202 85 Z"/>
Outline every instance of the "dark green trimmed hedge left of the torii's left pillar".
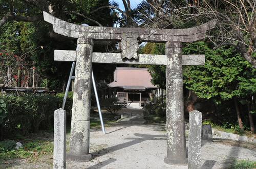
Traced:
<path fill-rule="evenodd" d="M 62 106 L 63 97 L 49 94 L 24 94 L 0 96 L 0 103 L 1 100 L 6 103 L 7 113 L 4 118 L 0 113 L 2 117 L 0 139 L 17 133 L 27 135 L 37 132 L 39 128 L 52 128 L 54 110 Z M 68 99 L 65 109 L 71 113 L 70 107 L 72 108 L 72 101 Z"/>

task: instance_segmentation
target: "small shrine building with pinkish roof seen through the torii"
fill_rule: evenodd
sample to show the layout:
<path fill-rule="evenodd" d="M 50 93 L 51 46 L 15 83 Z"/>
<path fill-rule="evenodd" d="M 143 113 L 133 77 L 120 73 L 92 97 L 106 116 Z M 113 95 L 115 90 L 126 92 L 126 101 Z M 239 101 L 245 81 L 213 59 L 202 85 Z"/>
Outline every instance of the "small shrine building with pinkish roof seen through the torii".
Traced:
<path fill-rule="evenodd" d="M 117 67 L 114 71 L 114 81 L 108 84 L 116 91 L 118 103 L 124 105 L 150 102 L 152 93 L 158 88 L 151 83 L 151 75 L 147 68 Z"/>

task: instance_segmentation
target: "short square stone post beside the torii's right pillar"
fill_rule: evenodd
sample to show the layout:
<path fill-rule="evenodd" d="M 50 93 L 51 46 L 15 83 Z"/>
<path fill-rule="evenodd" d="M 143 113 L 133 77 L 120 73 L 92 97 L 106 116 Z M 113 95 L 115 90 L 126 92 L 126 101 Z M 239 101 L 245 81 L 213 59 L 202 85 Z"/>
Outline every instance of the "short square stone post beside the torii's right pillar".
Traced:
<path fill-rule="evenodd" d="M 197 110 L 189 112 L 188 168 L 201 168 L 201 130 L 202 113 Z"/>

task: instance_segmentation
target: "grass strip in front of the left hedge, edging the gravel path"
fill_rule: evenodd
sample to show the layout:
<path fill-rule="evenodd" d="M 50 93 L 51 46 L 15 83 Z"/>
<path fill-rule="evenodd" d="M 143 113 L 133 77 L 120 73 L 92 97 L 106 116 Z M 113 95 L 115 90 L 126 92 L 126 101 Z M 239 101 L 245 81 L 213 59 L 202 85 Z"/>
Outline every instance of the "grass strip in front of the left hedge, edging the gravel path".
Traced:
<path fill-rule="evenodd" d="M 106 121 L 104 126 L 110 126 L 115 121 Z M 91 128 L 100 128 L 100 120 L 91 120 Z M 70 133 L 70 125 L 67 124 L 67 134 Z M 15 149 L 17 140 L 23 144 L 22 148 Z M 69 140 L 67 140 L 67 151 Z M 0 164 L 6 160 L 29 159 L 36 161 L 39 157 L 53 154 L 53 130 L 39 131 L 26 137 L 13 137 L 12 140 L 0 141 Z M 1 168 L 1 167 L 0 167 Z"/>

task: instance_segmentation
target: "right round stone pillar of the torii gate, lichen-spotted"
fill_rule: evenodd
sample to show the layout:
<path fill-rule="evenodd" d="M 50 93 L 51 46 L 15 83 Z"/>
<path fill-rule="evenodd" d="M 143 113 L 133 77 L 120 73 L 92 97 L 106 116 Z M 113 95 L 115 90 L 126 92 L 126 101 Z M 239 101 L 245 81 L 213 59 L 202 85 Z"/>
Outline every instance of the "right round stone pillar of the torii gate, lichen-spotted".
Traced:
<path fill-rule="evenodd" d="M 166 42 L 166 126 L 167 126 L 167 164 L 187 164 L 183 79 L 182 43 Z"/>

